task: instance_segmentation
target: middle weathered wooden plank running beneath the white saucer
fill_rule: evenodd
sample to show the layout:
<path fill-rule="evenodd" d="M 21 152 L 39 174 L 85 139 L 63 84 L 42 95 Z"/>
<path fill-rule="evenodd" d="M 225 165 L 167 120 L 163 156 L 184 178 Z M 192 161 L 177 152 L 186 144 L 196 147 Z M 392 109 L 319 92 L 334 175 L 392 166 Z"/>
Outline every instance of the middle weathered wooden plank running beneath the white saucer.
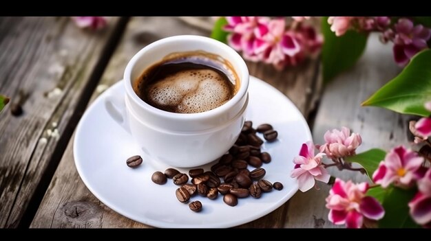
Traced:
<path fill-rule="evenodd" d="M 120 80 L 125 65 L 142 47 L 159 38 L 177 34 L 209 36 L 174 17 L 136 17 L 129 22 L 123 41 L 110 60 L 101 84 Z M 273 67 L 248 62 L 251 75 L 266 80 L 291 97 L 302 113 L 313 106 L 313 89 L 319 87 L 319 62 L 310 60 L 299 68 L 278 72 Z M 319 91 L 317 91 L 319 93 Z M 94 93 L 93 100 L 100 93 Z M 283 227 L 286 206 L 241 227 Z M 83 184 L 74 165 L 72 140 L 30 227 L 148 227 L 112 211 Z"/>

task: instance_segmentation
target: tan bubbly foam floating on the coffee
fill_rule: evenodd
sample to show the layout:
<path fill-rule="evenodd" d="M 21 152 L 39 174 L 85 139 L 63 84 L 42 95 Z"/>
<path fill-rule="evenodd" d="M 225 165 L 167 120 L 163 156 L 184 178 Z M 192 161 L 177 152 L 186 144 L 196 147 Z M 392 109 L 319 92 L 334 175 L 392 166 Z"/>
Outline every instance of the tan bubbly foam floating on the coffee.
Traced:
<path fill-rule="evenodd" d="M 191 69 L 174 73 L 148 89 L 148 100 L 176 113 L 199 113 L 227 102 L 233 93 L 220 73 L 211 69 Z"/>

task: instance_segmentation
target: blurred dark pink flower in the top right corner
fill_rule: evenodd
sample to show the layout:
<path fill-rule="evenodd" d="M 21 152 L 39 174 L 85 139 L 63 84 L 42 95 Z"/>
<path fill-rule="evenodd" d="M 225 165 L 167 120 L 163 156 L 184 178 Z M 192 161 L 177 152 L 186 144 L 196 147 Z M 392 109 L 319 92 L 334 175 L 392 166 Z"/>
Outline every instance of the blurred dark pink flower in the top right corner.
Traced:
<path fill-rule="evenodd" d="M 407 65 L 415 54 L 427 49 L 427 41 L 431 37 L 431 30 L 419 24 L 414 26 L 410 19 L 401 18 L 395 24 L 394 58 L 401 67 Z"/>

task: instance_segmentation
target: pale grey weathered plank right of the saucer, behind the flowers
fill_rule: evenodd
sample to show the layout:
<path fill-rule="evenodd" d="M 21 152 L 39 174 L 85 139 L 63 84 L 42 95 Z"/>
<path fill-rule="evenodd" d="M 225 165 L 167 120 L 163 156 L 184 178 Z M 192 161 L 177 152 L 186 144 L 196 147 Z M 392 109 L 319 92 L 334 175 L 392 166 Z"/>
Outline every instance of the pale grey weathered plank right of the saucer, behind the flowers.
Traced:
<path fill-rule="evenodd" d="M 347 126 L 361 134 L 363 143 L 358 152 L 370 148 L 388 150 L 395 145 L 408 144 L 408 117 L 383 108 L 360 106 L 383 84 L 397 76 L 400 69 L 392 58 L 391 46 L 379 43 L 378 36 L 371 35 L 364 56 L 357 65 L 325 88 L 313 128 L 315 143 L 324 143 L 326 130 Z M 339 172 L 337 168 L 329 170 L 330 174 L 344 180 L 367 181 L 366 176 L 359 172 Z M 319 187 L 321 190 L 299 191 L 293 196 L 285 227 L 340 227 L 328 221 L 325 198 L 330 187 L 324 183 L 319 183 Z"/>

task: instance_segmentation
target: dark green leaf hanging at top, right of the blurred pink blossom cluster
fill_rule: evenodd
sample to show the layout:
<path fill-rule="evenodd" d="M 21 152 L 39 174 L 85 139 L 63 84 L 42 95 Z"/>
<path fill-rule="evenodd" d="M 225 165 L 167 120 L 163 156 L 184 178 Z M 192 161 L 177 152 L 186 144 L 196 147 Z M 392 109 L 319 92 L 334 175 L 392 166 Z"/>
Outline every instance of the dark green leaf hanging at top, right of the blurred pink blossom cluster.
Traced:
<path fill-rule="evenodd" d="M 343 36 L 335 36 L 330 31 L 328 17 L 322 18 L 324 45 L 322 48 L 322 65 L 324 82 L 329 82 L 338 73 L 357 62 L 364 52 L 368 35 L 349 30 Z"/>

